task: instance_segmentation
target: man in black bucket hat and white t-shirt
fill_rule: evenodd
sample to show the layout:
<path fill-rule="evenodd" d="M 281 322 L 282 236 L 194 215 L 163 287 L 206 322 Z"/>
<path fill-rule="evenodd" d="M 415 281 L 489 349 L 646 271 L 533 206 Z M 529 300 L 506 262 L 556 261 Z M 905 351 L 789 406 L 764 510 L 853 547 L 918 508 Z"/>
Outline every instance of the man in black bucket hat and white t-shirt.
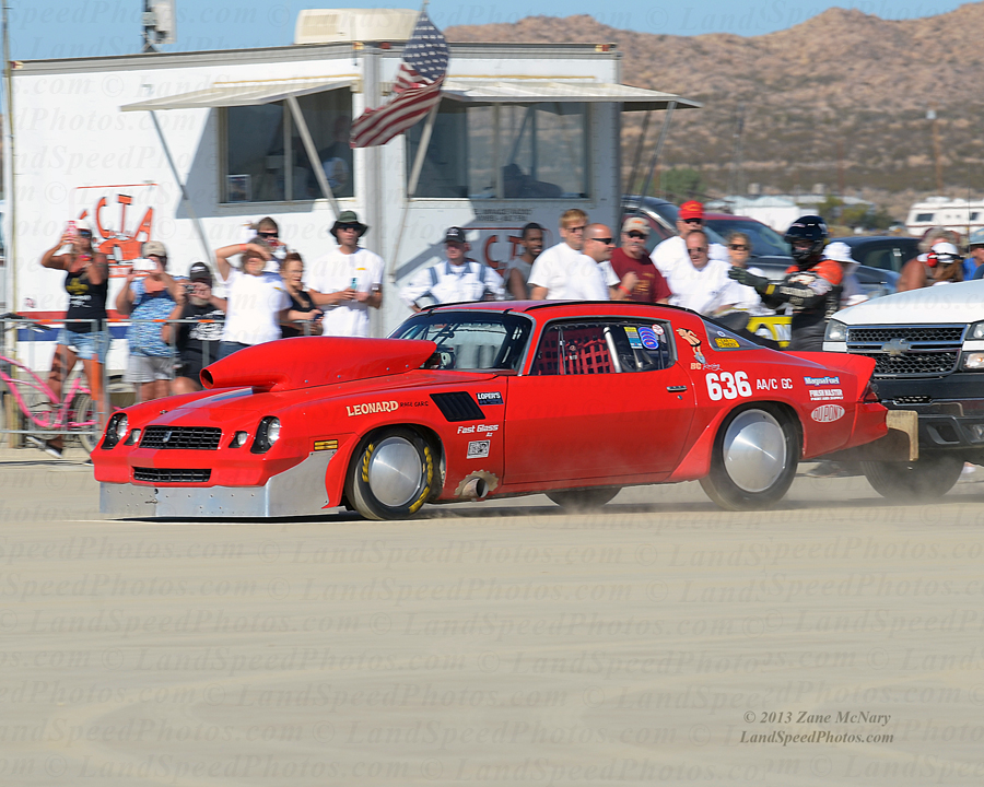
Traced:
<path fill-rule="evenodd" d="M 383 258 L 359 246 L 368 227 L 355 211 L 342 211 L 329 231 L 338 248 L 305 273 L 307 294 L 325 309 L 321 336 L 367 337 L 368 310 L 383 305 Z"/>

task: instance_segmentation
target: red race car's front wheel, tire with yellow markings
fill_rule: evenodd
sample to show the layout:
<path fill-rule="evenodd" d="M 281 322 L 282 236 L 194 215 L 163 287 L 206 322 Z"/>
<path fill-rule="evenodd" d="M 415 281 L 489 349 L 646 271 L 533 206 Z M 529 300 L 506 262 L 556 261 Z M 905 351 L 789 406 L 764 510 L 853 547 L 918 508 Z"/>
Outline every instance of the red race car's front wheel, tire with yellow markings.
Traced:
<path fill-rule="evenodd" d="M 352 455 L 345 495 L 366 519 L 407 519 L 434 491 L 435 465 L 434 448 L 417 432 L 382 428 Z"/>

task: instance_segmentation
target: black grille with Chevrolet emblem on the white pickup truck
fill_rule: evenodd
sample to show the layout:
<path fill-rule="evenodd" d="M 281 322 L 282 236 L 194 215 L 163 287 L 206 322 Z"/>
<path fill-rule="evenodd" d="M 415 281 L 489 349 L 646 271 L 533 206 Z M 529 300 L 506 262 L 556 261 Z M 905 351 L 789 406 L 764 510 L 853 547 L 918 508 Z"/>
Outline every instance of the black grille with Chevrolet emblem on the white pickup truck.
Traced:
<path fill-rule="evenodd" d="M 967 325 L 847 328 L 847 352 L 875 359 L 875 377 L 941 377 L 957 368 Z"/>

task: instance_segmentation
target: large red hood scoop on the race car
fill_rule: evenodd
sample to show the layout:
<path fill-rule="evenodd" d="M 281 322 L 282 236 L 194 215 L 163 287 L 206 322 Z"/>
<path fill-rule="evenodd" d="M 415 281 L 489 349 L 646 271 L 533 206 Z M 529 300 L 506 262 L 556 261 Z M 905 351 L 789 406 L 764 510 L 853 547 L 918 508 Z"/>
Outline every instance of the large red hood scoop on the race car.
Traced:
<path fill-rule="evenodd" d="M 298 337 L 256 344 L 207 366 L 206 388 L 284 391 L 384 377 L 420 368 L 436 351 L 431 341 Z"/>

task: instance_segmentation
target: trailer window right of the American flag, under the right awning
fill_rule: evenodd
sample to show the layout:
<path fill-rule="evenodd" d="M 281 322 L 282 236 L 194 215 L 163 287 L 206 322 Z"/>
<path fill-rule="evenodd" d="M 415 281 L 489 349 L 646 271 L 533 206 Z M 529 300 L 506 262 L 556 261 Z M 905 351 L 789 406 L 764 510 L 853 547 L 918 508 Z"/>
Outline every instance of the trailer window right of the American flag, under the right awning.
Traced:
<path fill-rule="evenodd" d="M 434 122 L 415 197 L 582 199 L 587 187 L 585 104 L 466 105 L 445 99 Z M 407 133 L 407 174 L 424 124 Z"/>

